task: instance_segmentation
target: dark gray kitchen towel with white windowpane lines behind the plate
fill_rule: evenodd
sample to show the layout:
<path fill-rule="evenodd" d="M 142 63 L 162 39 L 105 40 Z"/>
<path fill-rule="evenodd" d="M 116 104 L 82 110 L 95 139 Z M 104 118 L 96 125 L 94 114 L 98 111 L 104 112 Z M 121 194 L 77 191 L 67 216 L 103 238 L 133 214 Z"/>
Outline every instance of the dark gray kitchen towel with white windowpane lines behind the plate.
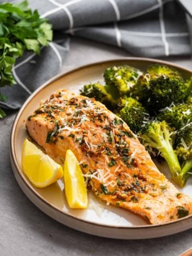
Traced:
<path fill-rule="evenodd" d="M 0 102 L 4 108 L 19 108 L 33 90 L 58 73 L 65 62 L 71 35 L 122 47 L 134 56 L 191 53 L 191 30 L 184 10 L 174 0 L 29 0 L 29 3 L 52 23 L 54 41 L 42 49 L 40 56 L 28 52 L 17 61 L 13 68 L 17 85 L 1 89 L 8 96 L 6 103 Z"/>

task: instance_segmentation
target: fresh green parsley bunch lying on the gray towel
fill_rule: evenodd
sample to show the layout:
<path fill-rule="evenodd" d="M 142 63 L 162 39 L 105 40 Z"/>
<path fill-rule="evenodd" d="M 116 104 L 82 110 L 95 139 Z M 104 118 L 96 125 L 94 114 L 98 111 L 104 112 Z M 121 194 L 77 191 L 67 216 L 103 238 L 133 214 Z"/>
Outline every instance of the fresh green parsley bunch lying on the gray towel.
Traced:
<path fill-rule="evenodd" d="M 0 88 L 12 86 L 15 79 L 12 67 L 25 50 L 40 54 L 41 46 L 52 40 L 52 26 L 40 18 L 37 10 L 28 7 L 28 2 L 0 4 Z M 0 99 L 6 101 L 1 94 Z M 0 118 L 6 116 L 0 108 Z"/>

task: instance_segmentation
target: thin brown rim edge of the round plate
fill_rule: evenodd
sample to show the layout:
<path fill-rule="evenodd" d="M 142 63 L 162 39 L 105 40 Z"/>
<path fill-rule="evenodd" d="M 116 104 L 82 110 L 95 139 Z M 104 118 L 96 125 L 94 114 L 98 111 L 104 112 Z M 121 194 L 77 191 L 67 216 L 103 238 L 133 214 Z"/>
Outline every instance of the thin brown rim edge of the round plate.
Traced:
<path fill-rule="evenodd" d="M 31 186 L 31 185 L 29 185 L 28 183 L 25 182 L 25 179 L 23 177 L 24 174 L 22 175 L 22 172 L 21 172 L 21 170 L 20 170 L 20 168 L 18 166 L 16 157 L 15 157 L 15 147 L 14 147 L 14 145 L 15 145 L 15 143 L 14 143 L 14 141 L 15 141 L 15 130 L 17 129 L 18 120 L 20 118 L 20 115 L 22 115 L 25 107 L 31 102 L 31 100 L 33 100 L 33 98 L 35 97 L 36 94 L 38 94 L 45 87 L 49 86 L 49 84 L 51 82 L 56 81 L 58 78 L 66 76 L 66 75 L 74 73 L 74 72 L 77 72 L 77 71 L 80 71 L 80 70 L 83 70 L 84 68 L 93 67 L 93 66 L 97 66 L 97 65 L 102 65 L 102 64 L 106 64 L 106 63 L 110 63 L 110 62 L 117 62 L 117 61 L 119 61 L 119 62 L 121 62 L 121 61 L 122 62 L 123 61 L 140 61 L 140 62 L 148 61 L 148 62 L 154 62 L 154 63 L 161 63 L 163 65 L 168 65 L 168 66 L 172 66 L 174 68 L 178 68 L 179 70 L 190 72 L 191 75 L 192 75 L 192 70 L 190 70 L 189 68 L 182 67 L 182 66 L 177 65 L 177 64 L 172 63 L 172 62 L 168 62 L 168 61 L 164 61 L 164 60 L 158 60 L 156 58 L 143 58 L 143 57 L 123 57 L 123 58 L 113 58 L 113 59 L 109 58 L 109 59 L 104 60 L 104 61 L 90 62 L 90 63 L 88 63 L 86 65 L 82 65 L 82 66 L 78 66 L 76 68 L 73 68 L 73 69 L 71 69 L 71 70 L 69 70 L 67 72 L 65 71 L 65 72 L 62 72 L 60 74 L 57 74 L 56 76 L 52 77 L 51 79 L 49 79 L 48 81 L 43 83 L 36 90 L 34 90 L 34 92 L 29 96 L 29 98 L 25 100 L 25 102 L 23 103 L 23 105 L 19 109 L 18 114 L 15 116 L 15 119 L 14 119 L 13 125 L 12 125 L 12 129 L 10 131 L 10 158 L 13 161 L 14 168 L 17 170 L 17 174 L 19 174 L 19 177 L 22 179 L 24 184 L 28 187 L 30 192 L 32 192 L 34 194 L 34 196 L 37 196 L 44 204 L 46 204 L 47 206 L 51 207 L 52 209 L 60 212 L 60 214 L 63 214 L 65 216 L 67 216 L 67 217 L 70 217 L 70 218 L 72 218 L 72 219 L 74 219 L 76 221 L 81 221 L 81 222 L 83 222 L 85 224 L 99 226 L 99 227 L 106 227 L 106 228 L 111 228 L 111 229 L 115 229 L 115 230 L 116 229 L 118 229 L 118 230 L 140 230 L 140 229 L 143 230 L 143 229 L 147 229 L 148 230 L 149 228 L 153 229 L 153 228 L 160 228 L 160 227 L 165 227 L 165 226 L 166 227 L 167 226 L 173 226 L 173 225 L 177 224 L 178 222 L 189 220 L 189 219 L 192 218 L 192 215 L 186 216 L 184 218 L 180 218 L 180 219 L 175 220 L 175 221 L 171 221 L 171 222 L 167 222 L 167 223 L 162 223 L 162 224 L 157 224 L 157 225 L 147 224 L 147 225 L 138 225 L 138 226 L 131 226 L 131 227 L 127 227 L 127 226 L 112 226 L 112 225 L 109 225 L 109 224 L 102 224 L 102 223 L 96 223 L 96 222 L 92 222 L 92 221 L 82 220 L 81 218 L 74 217 L 74 216 L 72 216 L 70 214 L 67 214 L 67 212 L 64 212 L 64 211 L 58 209 L 56 206 L 50 204 L 48 201 L 46 201 L 44 198 L 42 198 L 42 196 L 39 195 L 38 192 L 35 191 L 33 186 Z M 13 169 L 13 166 L 12 166 L 12 169 Z M 13 170 L 13 173 L 14 173 L 14 170 Z M 14 173 L 14 175 L 15 175 L 15 173 Z M 17 180 L 17 178 L 16 178 L 16 180 Z M 17 180 L 17 182 L 18 182 L 18 180 Z M 25 193 L 25 195 L 26 195 L 26 193 Z M 40 209 L 40 210 L 42 210 L 42 209 Z M 190 228 L 191 227 L 186 228 L 186 229 L 190 229 Z"/>

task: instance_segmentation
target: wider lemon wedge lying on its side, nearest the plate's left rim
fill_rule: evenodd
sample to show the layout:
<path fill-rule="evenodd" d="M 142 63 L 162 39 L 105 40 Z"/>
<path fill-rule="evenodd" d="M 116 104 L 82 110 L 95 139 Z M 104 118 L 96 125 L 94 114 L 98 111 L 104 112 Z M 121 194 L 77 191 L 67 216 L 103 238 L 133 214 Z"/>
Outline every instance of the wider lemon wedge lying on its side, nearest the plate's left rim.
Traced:
<path fill-rule="evenodd" d="M 27 139 L 23 142 L 22 169 L 30 182 L 39 188 L 44 188 L 63 176 L 60 164 Z"/>

